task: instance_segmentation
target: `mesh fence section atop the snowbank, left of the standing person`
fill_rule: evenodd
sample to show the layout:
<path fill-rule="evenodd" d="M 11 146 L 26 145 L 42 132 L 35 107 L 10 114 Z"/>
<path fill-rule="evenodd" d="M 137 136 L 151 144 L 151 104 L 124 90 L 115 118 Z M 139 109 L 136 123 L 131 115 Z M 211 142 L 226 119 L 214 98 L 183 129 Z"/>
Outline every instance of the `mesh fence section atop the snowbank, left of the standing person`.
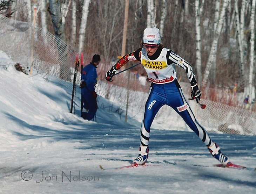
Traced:
<path fill-rule="evenodd" d="M 15 21 L 2 15 L 0 39 L 0 49 L 15 62 L 27 70 L 31 70 L 32 66 L 33 74 L 45 73 L 48 79 L 60 78 L 60 84 L 69 86 L 77 53 L 73 46 L 51 33 L 43 33 L 41 28 L 33 30 L 32 23 Z"/>

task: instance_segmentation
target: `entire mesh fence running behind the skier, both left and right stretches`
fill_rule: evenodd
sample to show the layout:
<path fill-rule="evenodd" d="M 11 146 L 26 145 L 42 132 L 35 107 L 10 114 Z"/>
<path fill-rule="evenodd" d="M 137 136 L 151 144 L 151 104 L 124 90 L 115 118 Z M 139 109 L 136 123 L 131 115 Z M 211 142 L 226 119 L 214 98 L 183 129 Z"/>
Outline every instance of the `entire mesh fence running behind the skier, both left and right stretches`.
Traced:
<path fill-rule="evenodd" d="M 33 74 L 45 74 L 47 79 L 55 79 L 55 82 L 57 81 L 59 85 L 70 87 L 71 90 L 72 84 L 70 84 L 70 81 L 73 81 L 77 50 L 53 34 L 44 34 L 41 28 L 35 28 L 34 39 L 32 39 L 32 33 L 33 26 L 31 23 L 15 21 L 0 15 L 0 50 L 7 53 L 10 58 L 22 64 L 28 70 L 33 65 Z M 32 45 L 32 42 L 34 42 L 34 45 Z M 108 66 L 105 66 L 98 69 L 98 75 L 102 80 L 108 68 Z M 119 77 L 119 80 L 127 80 L 125 75 L 127 74 L 123 73 L 117 77 Z M 78 72 L 76 83 L 80 81 L 80 76 L 81 74 Z M 99 82 L 98 90 L 101 90 L 99 94 L 119 103 L 120 110 L 125 110 L 127 92 L 116 91 L 117 88 L 113 84 L 114 82 Z M 115 84 L 120 84 L 120 81 L 115 81 Z M 190 86 L 180 84 L 184 95 L 188 99 L 190 97 Z M 145 89 L 134 88 L 138 85 L 134 82 L 130 84 L 129 113 L 133 115 L 141 113 L 142 118 L 148 93 L 145 92 Z M 139 106 L 134 104 L 138 101 L 133 99 L 140 99 Z M 255 111 L 210 100 L 202 99 L 201 102 L 207 104 L 205 109 L 200 109 L 200 106 L 197 106 L 194 101 L 189 101 L 198 122 L 209 132 L 256 135 Z M 170 118 L 173 121 L 170 121 Z M 168 106 L 161 108 L 154 122 L 162 123 L 165 129 L 188 129 L 182 118 Z"/>

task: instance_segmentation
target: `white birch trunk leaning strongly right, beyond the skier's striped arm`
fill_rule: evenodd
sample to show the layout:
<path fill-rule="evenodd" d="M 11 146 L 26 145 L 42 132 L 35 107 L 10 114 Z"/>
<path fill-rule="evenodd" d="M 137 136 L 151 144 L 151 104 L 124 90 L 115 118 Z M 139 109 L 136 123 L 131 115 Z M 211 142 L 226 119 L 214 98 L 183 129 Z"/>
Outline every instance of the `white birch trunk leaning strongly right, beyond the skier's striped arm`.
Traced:
<path fill-rule="evenodd" d="M 214 40 L 213 40 L 213 44 L 211 45 L 211 50 L 210 50 L 209 58 L 208 58 L 208 61 L 207 61 L 207 64 L 206 64 L 206 69 L 204 71 L 202 85 L 206 84 L 206 82 L 208 80 L 208 77 L 209 77 L 209 74 L 210 74 L 210 69 L 211 69 L 211 65 L 212 65 L 213 57 L 214 57 L 213 54 L 217 50 L 218 38 L 219 38 L 220 33 L 221 33 L 221 29 L 222 29 L 223 22 L 224 22 L 225 10 L 228 6 L 229 1 L 230 0 L 223 0 L 223 6 L 222 6 L 222 9 L 221 9 L 221 14 L 220 14 L 218 24 L 217 24 L 217 27 L 216 27 L 216 30 L 215 30 Z"/>

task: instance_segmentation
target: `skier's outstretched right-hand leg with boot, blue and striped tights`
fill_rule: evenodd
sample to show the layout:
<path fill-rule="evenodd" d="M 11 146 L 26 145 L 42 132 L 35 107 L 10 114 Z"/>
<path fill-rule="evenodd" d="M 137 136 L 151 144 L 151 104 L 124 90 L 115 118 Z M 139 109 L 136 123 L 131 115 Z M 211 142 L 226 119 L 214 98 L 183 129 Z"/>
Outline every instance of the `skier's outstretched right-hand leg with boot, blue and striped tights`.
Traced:
<path fill-rule="evenodd" d="M 206 131 L 206 129 L 204 129 L 204 127 L 202 127 L 202 125 L 200 125 L 197 122 L 177 82 L 176 82 L 176 86 L 177 86 L 178 92 L 175 94 L 172 94 L 172 97 L 175 100 L 171 100 L 170 102 L 168 102 L 168 105 L 171 106 L 179 115 L 181 115 L 181 117 L 187 123 L 190 129 L 192 129 L 196 133 L 196 135 L 204 142 L 204 144 L 206 144 L 206 146 L 208 147 L 208 150 L 211 152 L 213 157 L 226 165 L 230 160 L 228 159 L 228 157 L 224 156 L 221 153 L 218 145 L 215 144 L 213 141 L 211 141 L 211 138 L 208 132 Z M 175 103 L 173 103 L 174 101 Z"/>

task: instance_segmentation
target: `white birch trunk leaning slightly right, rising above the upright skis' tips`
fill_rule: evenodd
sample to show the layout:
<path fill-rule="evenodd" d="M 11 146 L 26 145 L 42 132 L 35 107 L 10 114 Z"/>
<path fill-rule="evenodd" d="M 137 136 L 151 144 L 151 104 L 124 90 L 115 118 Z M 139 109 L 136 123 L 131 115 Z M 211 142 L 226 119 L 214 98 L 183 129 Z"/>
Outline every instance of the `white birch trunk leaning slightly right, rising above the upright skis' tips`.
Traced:
<path fill-rule="evenodd" d="M 83 51 L 83 46 L 85 45 L 85 30 L 86 30 L 86 23 L 87 23 L 87 17 L 89 12 L 89 4 L 90 4 L 90 0 L 83 1 L 82 19 L 81 19 L 81 26 L 79 31 L 79 42 L 78 42 L 79 53 Z"/>

